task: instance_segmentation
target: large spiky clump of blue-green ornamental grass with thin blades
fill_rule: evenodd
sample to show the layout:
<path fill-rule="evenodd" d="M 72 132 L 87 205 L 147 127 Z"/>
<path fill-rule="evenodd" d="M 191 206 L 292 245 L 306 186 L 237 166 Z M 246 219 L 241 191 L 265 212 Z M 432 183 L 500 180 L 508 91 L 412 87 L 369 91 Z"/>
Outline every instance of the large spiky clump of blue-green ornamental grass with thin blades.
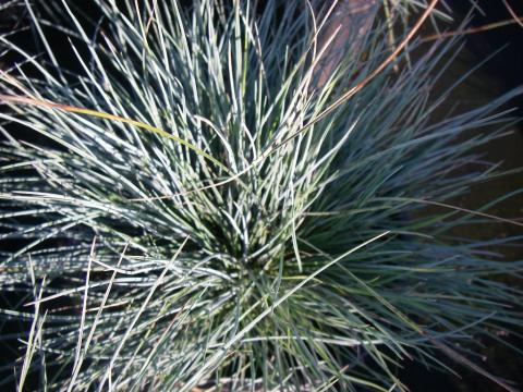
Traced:
<path fill-rule="evenodd" d="M 27 1 L 41 50 L 0 37 L 22 59 L 1 74 L 2 317 L 27 320 L 5 382 L 396 391 L 442 352 L 510 390 L 457 343 L 519 324 L 497 277 L 522 265 L 453 237 L 497 218 L 452 199 L 498 174 L 474 149 L 516 91 L 434 119 L 455 50 L 415 38 L 436 2 L 391 50 L 389 22 L 343 46 L 306 1 L 96 0 L 99 22 Z"/>

